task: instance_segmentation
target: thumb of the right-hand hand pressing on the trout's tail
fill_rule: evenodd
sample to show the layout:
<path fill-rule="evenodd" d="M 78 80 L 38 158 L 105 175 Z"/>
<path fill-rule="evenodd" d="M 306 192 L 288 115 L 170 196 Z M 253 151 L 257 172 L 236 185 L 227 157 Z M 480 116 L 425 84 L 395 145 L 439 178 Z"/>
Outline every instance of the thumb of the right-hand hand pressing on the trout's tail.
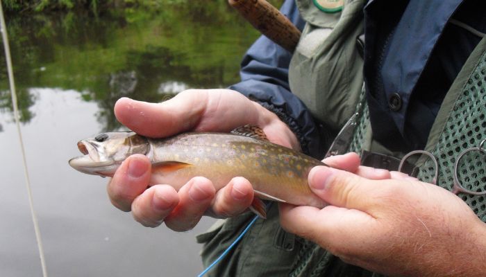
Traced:
<path fill-rule="evenodd" d="M 330 205 L 362 211 L 373 203 L 379 182 L 326 166 L 312 168 L 308 181 L 312 191 Z"/>

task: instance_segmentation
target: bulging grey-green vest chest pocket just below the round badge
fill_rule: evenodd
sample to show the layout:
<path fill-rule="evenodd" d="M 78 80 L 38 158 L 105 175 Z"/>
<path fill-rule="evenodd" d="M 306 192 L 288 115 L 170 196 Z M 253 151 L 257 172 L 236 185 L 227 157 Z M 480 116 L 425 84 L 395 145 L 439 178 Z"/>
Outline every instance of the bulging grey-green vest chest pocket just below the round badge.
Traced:
<path fill-rule="evenodd" d="M 328 13 L 312 1 L 296 1 L 307 24 L 290 62 L 290 89 L 331 129 L 351 117 L 362 88 L 363 59 L 355 42 L 364 32 L 365 2 L 345 0 L 342 11 Z"/>

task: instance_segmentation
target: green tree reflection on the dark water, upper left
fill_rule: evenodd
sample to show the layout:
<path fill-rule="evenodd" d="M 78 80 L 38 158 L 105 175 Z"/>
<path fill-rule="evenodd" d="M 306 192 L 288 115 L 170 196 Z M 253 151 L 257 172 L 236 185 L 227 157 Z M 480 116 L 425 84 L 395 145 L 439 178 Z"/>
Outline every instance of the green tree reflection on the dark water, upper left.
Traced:
<path fill-rule="evenodd" d="M 8 32 L 21 121 L 35 116 L 28 88 L 74 89 L 99 103 L 105 130 L 118 127 L 112 107 L 120 96 L 160 101 L 237 82 L 242 53 L 257 35 L 222 1 L 167 4 L 157 14 L 10 17 Z M 6 69 L 0 77 L 0 110 L 11 111 Z"/>

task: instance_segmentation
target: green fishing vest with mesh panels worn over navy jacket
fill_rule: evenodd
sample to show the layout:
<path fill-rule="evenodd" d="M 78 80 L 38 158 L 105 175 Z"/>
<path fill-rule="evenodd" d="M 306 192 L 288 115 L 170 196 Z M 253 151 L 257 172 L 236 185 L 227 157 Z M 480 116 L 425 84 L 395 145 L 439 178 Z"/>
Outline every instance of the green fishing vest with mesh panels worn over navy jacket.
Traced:
<path fill-rule="evenodd" d="M 308 105 L 316 118 L 330 127 L 342 127 L 349 117 L 358 114 L 358 123 L 353 131 L 349 152 L 359 154 L 362 150 L 367 150 L 403 156 L 405 153 L 389 152 L 372 139 L 362 73 L 360 69 L 355 68 L 362 67 L 362 60 L 358 53 L 351 53 L 360 50 L 359 44 L 354 43 L 355 37 L 360 35 L 360 30 L 354 28 L 362 29 L 362 17 L 357 10 L 361 11 L 364 1 L 344 1 L 342 11 L 335 13 L 321 12 L 317 10 L 317 6 L 312 6 L 310 1 L 297 3 L 303 18 L 310 22 L 303 30 L 301 42 L 310 46 L 299 45 L 296 48 L 290 68 L 292 91 Z M 361 18 L 353 19 L 353 16 Z M 326 30 L 328 28 L 333 32 Z M 346 28 L 351 28 L 354 33 Z M 317 34 L 316 32 L 321 32 L 321 35 L 327 33 L 326 39 L 330 40 L 318 38 L 318 35 L 312 37 Z M 333 35 L 334 32 L 340 32 L 341 35 L 349 34 L 352 38 L 349 41 L 353 41 L 353 45 L 344 44 L 340 36 Z M 308 35 L 311 37 L 308 38 Z M 333 46 L 334 44 L 337 45 Z M 340 56 L 343 60 L 338 62 L 335 57 L 327 57 L 326 51 L 333 53 L 333 56 Z M 337 66 L 337 69 L 332 72 L 326 70 L 334 69 L 332 66 Z M 353 76 L 353 79 L 340 78 L 346 74 L 349 74 L 347 77 Z M 322 78 L 323 75 L 326 78 Z M 319 80 L 319 84 L 315 83 L 315 80 Z M 327 86 L 333 89 L 322 91 L 322 88 Z M 324 94 L 319 96 L 319 93 Z M 326 98 L 326 101 L 323 98 Z M 321 110 L 319 105 L 331 105 L 332 108 L 326 106 L 327 109 Z M 337 112 L 332 112 L 333 109 Z M 428 137 L 425 150 L 433 154 L 439 164 L 437 186 L 452 190 L 453 168 L 458 155 L 468 148 L 478 147 L 480 142 L 486 139 L 485 115 L 486 38 L 483 38 L 449 89 Z M 470 190 L 486 190 L 486 154 L 478 151 L 468 152 L 460 161 L 458 178 L 462 185 Z M 435 168 L 430 159 L 419 157 L 412 162 L 418 170 L 419 179 L 430 182 L 434 178 Z M 459 197 L 483 222 L 486 222 L 485 196 L 460 193 Z M 242 233 L 253 216 L 253 213 L 244 213 L 226 220 L 218 220 L 208 232 L 199 235 L 196 239 L 203 244 L 203 265 L 208 266 L 216 260 L 237 235 Z M 272 204 L 267 213 L 267 220 L 257 220 L 237 247 L 234 247 L 207 276 L 381 275 L 348 265 L 319 245 L 287 233 L 280 227 L 277 205 Z"/>

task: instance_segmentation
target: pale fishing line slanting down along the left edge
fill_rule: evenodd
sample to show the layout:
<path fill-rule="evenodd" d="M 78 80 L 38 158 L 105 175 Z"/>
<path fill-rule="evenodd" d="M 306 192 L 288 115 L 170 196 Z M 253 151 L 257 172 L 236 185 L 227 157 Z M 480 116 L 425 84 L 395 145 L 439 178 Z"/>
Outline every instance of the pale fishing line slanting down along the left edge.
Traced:
<path fill-rule="evenodd" d="M 10 95 L 12 96 L 13 116 L 15 124 L 17 125 L 17 134 L 19 135 L 20 148 L 22 150 L 22 161 L 24 163 L 24 175 L 26 180 L 28 204 L 31 207 L 31 217 L 34 224 L 35 239 L 37 240 L 37 248 L 39 249 L 40 265 L 42 266 L 42 276 L 47 277 L 46 260 L 44 258 L 44 250 L 42 248 L 42 240 L 40 239 L 40 229 L 35 215 L 34 202 L 32 198 L 31 179 L 28 177 L 27 160 L 24 148 L 24 140 L 22 139 L 22 132 L 20 131 L 19 107 L 17 105 L 17 93 L 15 92 L 15 82 L 13 79 L 12 59 L 10 58 L 10 46 L 8 45 L 7 26 L 5 18 L 3 17 L 2 2 L 0 0 L 0 31 L 3 40 L 3 48 L 5 49 L 5 60 L 7 62 L 8 82 L 10 84 Z"/>

